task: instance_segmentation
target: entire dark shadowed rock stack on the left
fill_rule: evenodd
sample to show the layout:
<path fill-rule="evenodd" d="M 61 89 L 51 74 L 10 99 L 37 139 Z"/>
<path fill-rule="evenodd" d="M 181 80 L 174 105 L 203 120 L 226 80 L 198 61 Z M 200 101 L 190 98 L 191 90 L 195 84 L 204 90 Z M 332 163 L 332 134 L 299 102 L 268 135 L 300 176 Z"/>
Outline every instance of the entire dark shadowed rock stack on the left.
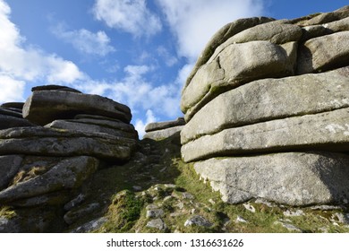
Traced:
<path fill-rule="evenodd" d="M 69 87 L 33 88 L 24 104 L 0 110 L 24 121 L 0 130 L 0 206 L 16 212 L 0 217 L 4 232 L 66 228 L 64 204 L 101 163 L 129 160 L 138 142 L 128 107 Z"/>

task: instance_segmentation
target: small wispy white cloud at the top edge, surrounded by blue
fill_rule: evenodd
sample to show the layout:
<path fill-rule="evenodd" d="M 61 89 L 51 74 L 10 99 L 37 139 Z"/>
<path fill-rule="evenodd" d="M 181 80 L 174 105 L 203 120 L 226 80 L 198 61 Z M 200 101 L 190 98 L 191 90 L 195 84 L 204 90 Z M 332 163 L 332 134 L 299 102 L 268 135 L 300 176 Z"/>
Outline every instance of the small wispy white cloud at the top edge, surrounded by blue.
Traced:
<path fill-rule="evenodd" d="M 135 37 L 151 36 L 162 28 L 160 19 L 147 8 L 145 0 L 96 0 L 93 13 L 98 21 Z"/>

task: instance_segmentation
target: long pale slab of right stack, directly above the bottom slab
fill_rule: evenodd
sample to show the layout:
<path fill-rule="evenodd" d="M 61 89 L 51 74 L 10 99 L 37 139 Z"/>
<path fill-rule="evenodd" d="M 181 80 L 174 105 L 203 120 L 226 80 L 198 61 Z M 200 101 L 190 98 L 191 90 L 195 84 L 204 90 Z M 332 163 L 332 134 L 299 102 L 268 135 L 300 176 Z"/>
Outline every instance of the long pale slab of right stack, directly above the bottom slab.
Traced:
<path fill-rule="evenodd" d="M 182 146 L 186 162 L 277 151 L 349 151 L 349 108 L 223 130 Z"/>

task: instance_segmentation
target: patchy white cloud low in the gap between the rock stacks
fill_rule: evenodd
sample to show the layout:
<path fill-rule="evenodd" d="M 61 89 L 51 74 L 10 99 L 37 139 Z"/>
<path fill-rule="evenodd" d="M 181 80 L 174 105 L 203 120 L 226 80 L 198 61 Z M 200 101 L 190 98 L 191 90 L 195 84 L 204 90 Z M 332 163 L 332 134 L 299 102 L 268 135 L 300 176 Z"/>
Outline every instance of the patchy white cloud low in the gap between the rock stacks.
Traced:
<path fill-rule="evenodd" d="M 164 117 L 178 117 L 181 114 L 179 100 L 181 86 L 178 82 L 154 86 L 147 80 L 147 74 L 154 72 L 152 65 L 127 65 L 123 79 L 114 82 L 83 82 L 75 85 L 81 91 L 107 96 L 132 109 L 133 115 L 151 109 Z"/>

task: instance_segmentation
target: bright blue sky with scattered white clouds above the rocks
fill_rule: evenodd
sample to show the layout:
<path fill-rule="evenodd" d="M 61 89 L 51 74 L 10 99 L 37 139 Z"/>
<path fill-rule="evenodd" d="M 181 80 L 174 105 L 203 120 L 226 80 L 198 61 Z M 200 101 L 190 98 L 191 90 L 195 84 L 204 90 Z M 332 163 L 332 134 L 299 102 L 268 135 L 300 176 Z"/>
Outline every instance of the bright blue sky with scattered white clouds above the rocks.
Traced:
<path fill-rule="evenodd" d="M 209 38 L 251 16 L 292 19 L 347 0 L 0 0 L 0 103 L 62 84 L 149 122 L 183 116 L 183 82 Z"/>

